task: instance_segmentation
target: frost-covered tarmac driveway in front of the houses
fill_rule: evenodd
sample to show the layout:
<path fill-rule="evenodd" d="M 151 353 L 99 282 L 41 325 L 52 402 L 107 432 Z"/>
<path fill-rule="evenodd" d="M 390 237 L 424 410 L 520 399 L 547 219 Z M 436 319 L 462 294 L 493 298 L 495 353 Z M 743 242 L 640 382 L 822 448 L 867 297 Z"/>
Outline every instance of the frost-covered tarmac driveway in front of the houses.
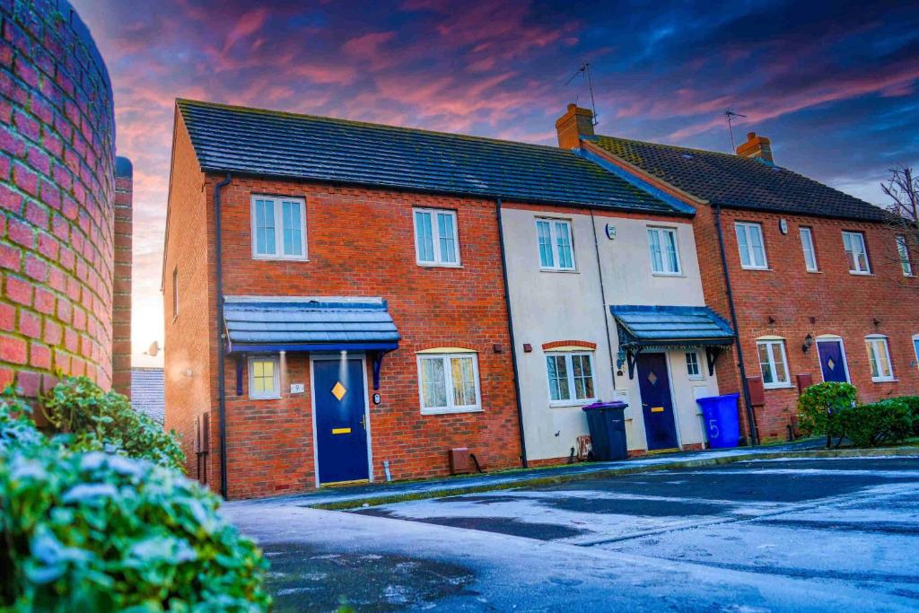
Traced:
<path fill-rule="evenodd" d="M 919 458 L 754 460 L 359 509 L 226 505 L 278 610 L 915 610 Z"/>

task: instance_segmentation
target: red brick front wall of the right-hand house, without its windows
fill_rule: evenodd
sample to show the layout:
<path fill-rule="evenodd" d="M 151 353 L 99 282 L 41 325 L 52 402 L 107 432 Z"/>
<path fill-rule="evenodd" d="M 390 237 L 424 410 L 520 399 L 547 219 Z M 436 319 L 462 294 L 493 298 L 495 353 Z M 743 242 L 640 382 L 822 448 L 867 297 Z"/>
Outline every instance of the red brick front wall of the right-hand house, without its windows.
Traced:
<path fill-rule="evenodd" d="M 710 210 L 699 211 L 697 236 L 711 232 L 706 230 L 713 227 L 710 217 Z M 721 217 L 747 376 L 761 374 L 755 339 L 762 335 L 778 335 L 786 338 L 792 383 L 799 373 L 809 373 L 819 382 L 823 377 L 817 347 L 811 347 L 805 354 L 801 350 L 804 337 L 808 334 L 814 337 L 840 335 L 850 379 L 863 402 L 919 392 L 919 369 L 915 366 L 912 342 L 912 336 L 919 334 L 919 282 L 902 276 L 900 265 L 895 261 L 895 244 L 890 231 L 878 223 L 753 211 L 722 210 Z M 789 222 L 788 234 L 779 232 L 779 219 L 783 217 Z M 734 221 L 762 223 L 769 270 L 741 267 Z M 818 273 L 805 269 L 798 232 L 802 225 L 812 229 L 820 267 Z M 865 233 L 872 276 L 848 272 L 843 250 L 844 230 Z M 717 277 L 718 258 L 703 255 L 700 249 L 699 262 L 703 275 Z M 775 323 L 770 324 L 770 318 Z M 879 324 L 874 324 L 875 319 Z M 888 335 L 896 381 L 875 383 L 871 380 L 865 348 L 865 336 L 871 334 Z M 728 363 L 727 360 L 724 363 Z M 722 372 L 720 369 L 719 378 Z M 763 440 L 787 437 L 789 418 L 796 411 L 797 402 L 796 388 L 766 390 L 766 405 L 756 411 L 756 423 Z"/>

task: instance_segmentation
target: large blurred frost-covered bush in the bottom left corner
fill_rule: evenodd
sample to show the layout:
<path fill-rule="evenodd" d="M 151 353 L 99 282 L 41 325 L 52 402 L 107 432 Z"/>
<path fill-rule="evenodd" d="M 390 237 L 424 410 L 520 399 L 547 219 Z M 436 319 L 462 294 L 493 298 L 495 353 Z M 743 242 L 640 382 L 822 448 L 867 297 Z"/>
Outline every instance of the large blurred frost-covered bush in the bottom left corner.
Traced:
<path fill-rule="evenodd" d="M 147 460 L 0 452 L 0 609 L 265 610 L 267 563 L 219 504 Z"/>

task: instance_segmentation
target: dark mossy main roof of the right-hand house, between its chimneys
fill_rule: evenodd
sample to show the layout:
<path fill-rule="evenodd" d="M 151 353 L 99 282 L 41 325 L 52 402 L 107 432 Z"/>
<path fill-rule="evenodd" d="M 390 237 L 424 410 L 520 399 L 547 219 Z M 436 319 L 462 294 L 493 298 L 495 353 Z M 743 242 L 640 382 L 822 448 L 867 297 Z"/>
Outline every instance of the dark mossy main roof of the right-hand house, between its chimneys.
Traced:
<path fill-rule="evenodd" d="M 862 221 L 888 218 L 887 211 L 864 200 L 754 158 L 611 136 L 597 136 L 595 142 L 649 175 L 725 208 Z"/>

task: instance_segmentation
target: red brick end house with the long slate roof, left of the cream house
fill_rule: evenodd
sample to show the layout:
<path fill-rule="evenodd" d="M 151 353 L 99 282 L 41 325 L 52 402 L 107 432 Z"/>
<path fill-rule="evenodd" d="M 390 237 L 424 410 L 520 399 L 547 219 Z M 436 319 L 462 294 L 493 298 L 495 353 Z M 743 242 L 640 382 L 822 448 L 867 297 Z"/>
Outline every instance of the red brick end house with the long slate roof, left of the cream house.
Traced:
<path fill-rule="evenodd" d="M 520 465 L 502 207 L 637 201 L 556 147 L 179 100 L 165 426 L 189 473 L 242 498 L 443 475 L 451 448 Z"/>

